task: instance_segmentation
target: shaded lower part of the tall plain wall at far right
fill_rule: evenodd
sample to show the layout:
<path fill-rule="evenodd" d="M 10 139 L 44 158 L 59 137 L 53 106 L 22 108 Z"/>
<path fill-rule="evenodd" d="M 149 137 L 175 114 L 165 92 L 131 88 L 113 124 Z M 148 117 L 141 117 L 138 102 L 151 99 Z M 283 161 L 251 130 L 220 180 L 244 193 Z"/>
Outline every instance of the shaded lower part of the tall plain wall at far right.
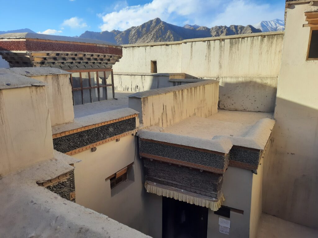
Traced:
<path fill-rule="evenodd" d="M 318 110 L 277 98 L 274 115 L 263 211 L 318 228 Z"/>

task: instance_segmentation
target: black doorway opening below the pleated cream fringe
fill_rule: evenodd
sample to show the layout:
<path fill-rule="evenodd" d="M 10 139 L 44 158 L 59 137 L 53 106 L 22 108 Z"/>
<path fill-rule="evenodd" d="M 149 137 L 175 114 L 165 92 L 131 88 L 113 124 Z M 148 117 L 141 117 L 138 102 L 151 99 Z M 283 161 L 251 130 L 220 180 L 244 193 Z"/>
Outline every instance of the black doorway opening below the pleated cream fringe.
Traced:
<path fill-rule="evenodd" d="M 208 208 L 163 197 L 162 238 L 206 238 Z"/>

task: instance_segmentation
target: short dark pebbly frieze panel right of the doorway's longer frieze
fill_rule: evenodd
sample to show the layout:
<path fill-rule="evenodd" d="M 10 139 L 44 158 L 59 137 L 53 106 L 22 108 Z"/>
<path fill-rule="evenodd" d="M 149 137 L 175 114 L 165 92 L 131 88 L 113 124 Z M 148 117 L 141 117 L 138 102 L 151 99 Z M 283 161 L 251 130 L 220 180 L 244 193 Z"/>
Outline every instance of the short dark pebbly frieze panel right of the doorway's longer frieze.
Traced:
<path fill-rule="evenodd" d="M 263 150 L 250 150 L 233 147 L 230 150 L 230 160 L 244 163 L 246 166 L 257 169 L 262 153 Z"/>

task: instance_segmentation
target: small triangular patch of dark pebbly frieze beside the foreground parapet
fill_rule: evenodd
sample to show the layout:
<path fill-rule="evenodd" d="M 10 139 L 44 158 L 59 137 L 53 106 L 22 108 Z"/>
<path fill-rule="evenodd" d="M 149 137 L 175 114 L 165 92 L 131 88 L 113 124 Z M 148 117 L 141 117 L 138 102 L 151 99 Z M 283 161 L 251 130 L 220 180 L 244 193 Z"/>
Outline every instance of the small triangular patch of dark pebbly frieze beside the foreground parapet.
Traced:
<path fill-rule="evenodd" d="M 70 193 L 75 192 L 74 170 L 70 171 L 69 173 L 70 176 L 67 177 L 65 180 L 47 186 L 46 188 L 53 193 L 58 194 L 62 198 L 71 201 Z M 73 199 L 72 202 L 75 202 L 75 199 Z"/>

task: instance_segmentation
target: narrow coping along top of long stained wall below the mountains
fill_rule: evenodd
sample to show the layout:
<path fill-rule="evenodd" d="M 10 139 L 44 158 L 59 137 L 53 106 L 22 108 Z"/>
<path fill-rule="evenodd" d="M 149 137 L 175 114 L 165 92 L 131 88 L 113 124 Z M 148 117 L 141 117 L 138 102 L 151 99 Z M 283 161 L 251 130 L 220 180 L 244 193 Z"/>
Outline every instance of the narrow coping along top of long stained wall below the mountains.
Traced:
<path fill-rule="evenodd" d="M 283 35 L 285 31 L 270 31 L 270 32 L 259 32 L 259 33 L 251 33 L 251 34 L 240 34 L 240 35 L 232 35 L 232 36 L 216 36 L 216 37 L 205 37 L 205 38 L 195 38 L 195 39 L 187 39 L 182 41 L 169 41 L 169 42 L 153 42 L 153 43 L 142 43 L 142 44 L 126 44 L 122 45 L 123 48 L 128 47 L 141 47 L 141 46 L 158 46 L 158 45 L 178 45 L 178 44 L 186 44 L 191 42 L 205 42 L 205 41 L 216 41 L 216 40 L 227 40 L 227 39 L 236 39 L 236 38 L 246 38 L 246 37 L 257 37 L 257 36 L 271 36 L 271 35 Z"/>

